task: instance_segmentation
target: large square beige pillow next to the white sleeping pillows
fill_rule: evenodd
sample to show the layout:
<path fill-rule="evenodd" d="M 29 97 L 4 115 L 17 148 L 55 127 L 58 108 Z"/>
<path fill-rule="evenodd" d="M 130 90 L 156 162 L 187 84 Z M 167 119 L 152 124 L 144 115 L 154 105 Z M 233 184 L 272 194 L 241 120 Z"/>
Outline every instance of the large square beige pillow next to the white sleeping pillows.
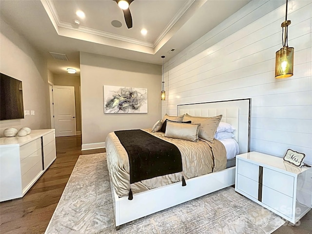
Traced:
<path fill-rule="evenodd" d="M 214 143 L 216 129 L 221 121 L 222 115 L 214 117 L 195 117 L 185 114 L 183 121 L 191 120 L 192 123 L 200 123 L 199 138 Z"/>

